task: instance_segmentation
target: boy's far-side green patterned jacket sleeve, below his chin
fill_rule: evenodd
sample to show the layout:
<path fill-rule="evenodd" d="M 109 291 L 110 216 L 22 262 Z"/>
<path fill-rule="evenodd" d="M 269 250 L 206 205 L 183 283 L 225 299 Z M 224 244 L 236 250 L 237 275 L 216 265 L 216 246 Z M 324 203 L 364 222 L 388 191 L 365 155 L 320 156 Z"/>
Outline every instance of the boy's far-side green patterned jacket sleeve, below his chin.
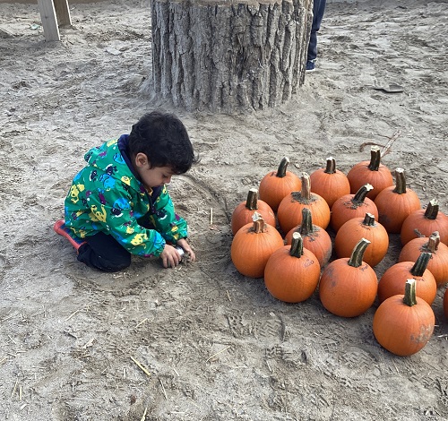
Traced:
<path fill-rule="evenodd" d="M 163 236 L 173 244 L 177 240 L 188 236 L 188 227 L 185 219 L 179 217 L 175 211 L 174 204 L 169 196 L 166 186 L 153 203 L 153 207 L 144 217 Z"/>

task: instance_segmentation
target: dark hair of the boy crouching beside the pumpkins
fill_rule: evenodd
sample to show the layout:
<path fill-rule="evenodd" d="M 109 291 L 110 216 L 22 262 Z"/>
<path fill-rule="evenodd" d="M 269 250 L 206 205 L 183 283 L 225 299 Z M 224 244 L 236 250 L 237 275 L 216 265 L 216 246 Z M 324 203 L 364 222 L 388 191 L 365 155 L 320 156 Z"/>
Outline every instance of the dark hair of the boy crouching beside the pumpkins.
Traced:
<path fill-rule="evenodd" d="M 175 174 L 186 173 L 198 161 L 185 125 L 177 116 L 160 111 L 145 114 L 133 125 L 128 147 L 132 156 L 144 153 L 151 168 L 170 167 Z"/>

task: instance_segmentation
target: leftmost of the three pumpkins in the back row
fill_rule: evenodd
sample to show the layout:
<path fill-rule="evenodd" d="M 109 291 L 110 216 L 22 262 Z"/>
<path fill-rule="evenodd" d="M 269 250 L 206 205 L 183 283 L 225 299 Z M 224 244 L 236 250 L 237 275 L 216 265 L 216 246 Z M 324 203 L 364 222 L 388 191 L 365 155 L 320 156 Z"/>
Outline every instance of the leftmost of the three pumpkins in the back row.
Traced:
<path fill-rule="evenodd" d="M 268 203 L 272 211 L 277 211 L 281 200 L 291 192 L 296 192 L 302 187 L 300 178 L 287 170 L 289 159 L 280 161 L 277 171 L 271 171 L 263 176 L 258 193 L 260 200 Z"/>

